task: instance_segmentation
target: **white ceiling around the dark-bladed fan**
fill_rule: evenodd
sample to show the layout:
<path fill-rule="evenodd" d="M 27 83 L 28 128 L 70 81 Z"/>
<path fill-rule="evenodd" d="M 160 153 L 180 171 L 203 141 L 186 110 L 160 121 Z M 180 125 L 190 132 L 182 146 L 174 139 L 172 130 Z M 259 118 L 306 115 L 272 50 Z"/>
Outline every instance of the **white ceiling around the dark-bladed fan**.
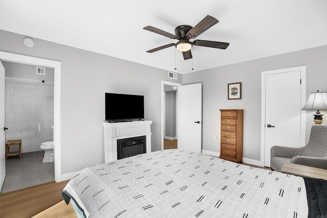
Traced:
<path fill-rule="evenodd" d="M 184 74 L 326 45 L 326 11 L 325 0 L 0 0 L 0 29 Z M 177 40 L 143 27 L 174 34 L 206 15 L 219 23 L 195 39 L 226 50 L 193 46 L 190 60 L 174 46 L 146 53 Z"/>

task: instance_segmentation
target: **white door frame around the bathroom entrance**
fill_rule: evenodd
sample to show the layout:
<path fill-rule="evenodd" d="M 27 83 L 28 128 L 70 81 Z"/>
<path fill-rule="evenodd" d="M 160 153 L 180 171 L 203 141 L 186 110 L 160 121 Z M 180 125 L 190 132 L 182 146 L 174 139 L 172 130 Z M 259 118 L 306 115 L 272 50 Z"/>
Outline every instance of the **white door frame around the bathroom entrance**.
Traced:
<path fill-rule="evenodd" d="M 61 62 L 43 58 L 35 58 L 25 55 L 0 51 L 0 59 L 8 62 L 51 67 L 54 68 L 54 156 L 55 156 L 55 181 L 61 182 L 66 178 L 62 177 L 61 171 Z"/>

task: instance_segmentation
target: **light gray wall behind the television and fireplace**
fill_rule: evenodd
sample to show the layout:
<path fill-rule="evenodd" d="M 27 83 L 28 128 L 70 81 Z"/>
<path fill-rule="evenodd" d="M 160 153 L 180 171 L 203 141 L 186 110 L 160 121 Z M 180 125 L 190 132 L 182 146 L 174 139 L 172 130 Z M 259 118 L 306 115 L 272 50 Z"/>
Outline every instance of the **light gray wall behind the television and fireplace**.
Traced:
<path fill-rule="evenodd" d="M 105 92 L 145 96 L 152 151 L 161 149 L 161 80 L 181 83 L 182 75 L 36 38 L 26 47 L 24 35 L 3 30 L 0 38 L 0 51 L 61 62 L 62 174 L 104 162 Z"/>

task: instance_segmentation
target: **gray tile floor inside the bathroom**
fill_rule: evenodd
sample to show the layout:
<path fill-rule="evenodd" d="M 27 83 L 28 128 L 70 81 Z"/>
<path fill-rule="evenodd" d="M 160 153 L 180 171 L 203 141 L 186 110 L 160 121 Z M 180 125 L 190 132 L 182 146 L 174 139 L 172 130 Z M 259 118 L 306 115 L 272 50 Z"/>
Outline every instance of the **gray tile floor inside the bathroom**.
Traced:
<path fill-rule="evenodd" d="M 44 151 L 22 153 L 6 160 L 6 177 L 0 193 L 55 180 L 54 162 L 42 163 Z"/>

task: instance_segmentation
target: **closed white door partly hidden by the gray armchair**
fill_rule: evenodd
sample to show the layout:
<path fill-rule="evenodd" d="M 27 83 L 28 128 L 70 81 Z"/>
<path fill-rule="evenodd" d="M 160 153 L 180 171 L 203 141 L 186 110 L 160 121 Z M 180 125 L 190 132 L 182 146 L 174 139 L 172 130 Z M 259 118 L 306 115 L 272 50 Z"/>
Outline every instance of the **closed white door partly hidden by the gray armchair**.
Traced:
<path fill-rule="evenodd" d="M 301 70 L 284 69 L 265 80 L 264 165 L 270 166 L 272 146 L 303 146 Z M 304 119 L 305 120 L 305 119 Z M 305 135 L 305 133 L 304 133 Z"/>

